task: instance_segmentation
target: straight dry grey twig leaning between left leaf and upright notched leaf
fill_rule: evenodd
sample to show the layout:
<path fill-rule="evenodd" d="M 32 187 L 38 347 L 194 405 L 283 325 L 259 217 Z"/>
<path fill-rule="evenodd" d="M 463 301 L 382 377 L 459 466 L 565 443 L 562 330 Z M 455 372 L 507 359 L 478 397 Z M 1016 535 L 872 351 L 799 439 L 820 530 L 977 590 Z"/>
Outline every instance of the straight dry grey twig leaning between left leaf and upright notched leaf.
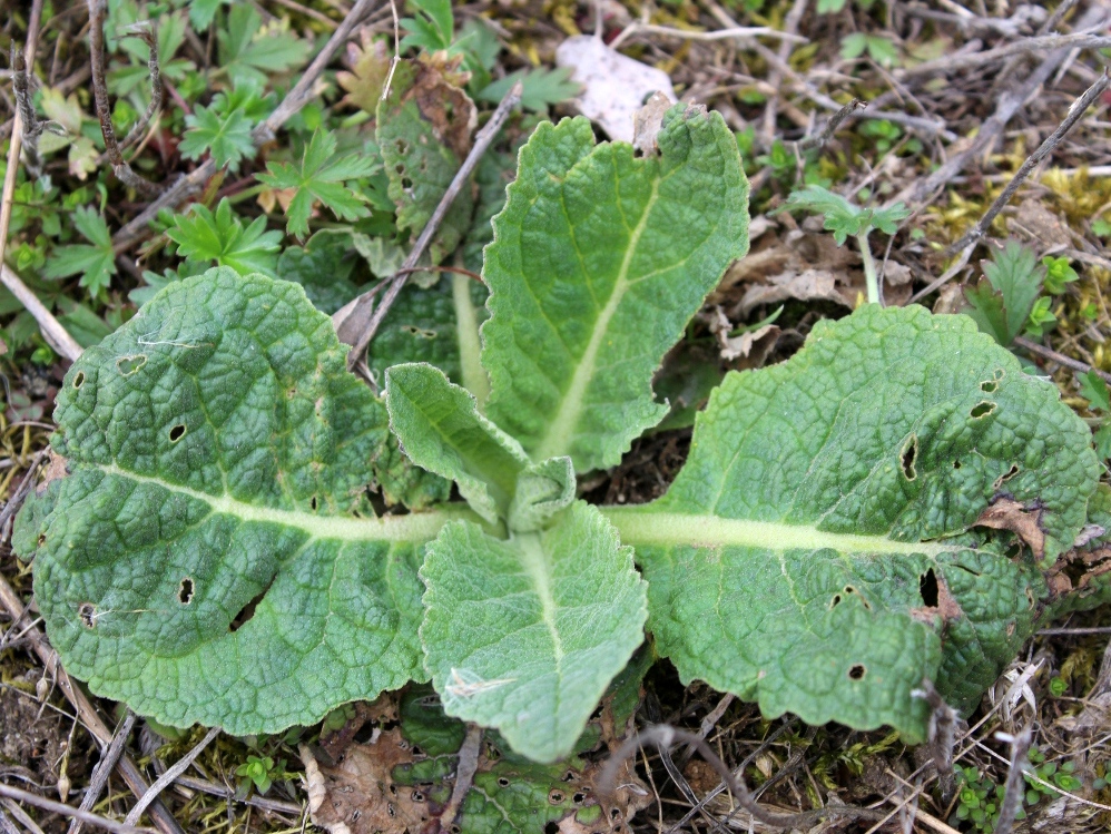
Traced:
<path fill-rule="evenodd" d="M 382 301 L 377 303 L 374 307 L 374 312 L 370 316 L 370 321 L 366 326 L 361 331 L 354 330 L 352 327 L 337 327 L 337 333 L 340 335 L 340 341 L 351 344 L 352 350 L 347 354 L 347 367 L 352 369 L 355 364 L 363 357 L 366 353 L 366 346 L 374 338 L 374 334 L 377 333 L 378 327 L 382 325 L 382 320 L 385 318 L 386 313 L 390 312 L 390 307 L 393 305 L 394 300 L 401 292 L 402 287 L 405 286 L 405 279 L 407 278 L 406 269 L 411 271 L 416 266 L 417 261 L 424 254 L 429 244 L 432 243 L 432 238 L 435 236 L 436 232 L 440 229 L 440 224 L 443 223 L 443 218 L 448 215 L 451 209 L 452 203 L 455 202 L 455 197 L 466 185 L 468 180 L 471 178 L 471 171 L 479 164 L 479 159 L 482 155 L 486 153 L 486 148 L 498 136 L 498 131 L 501 130 L 501 126 L 509 118 L 510 112 L 514 107 L 521 101 L 521 94 L 524 88 L 520 81 L 513 85 L 505 97 L 498 105 L 498 109 L 493 111 L 490 120 L 479 130 L 474 136 L 474 145 L 471 148 L 471 153 L 466 155 L 466 159 L 460 166 L 459 170 L 455 173 L 454 179 L 451 180 L 451 185 L 448 186 L 448 190 L 444 192 L 443 198 L 440 200 L 440 205 L 436 206 L 436 210 L 432 213 L 432 217 L 429 218 L 427 224 L 421 232 L 420 237 L 416 238 L 416 243 L 413 244 L 412 252 L 409 253 L 409 257 L 405 258 L 405 263 L 402 264 L 401 272 L 397 276 L 389 278 L 390 287 L 385 291 Z M 354 318 L 352 313 L 356 307 L 361 306 L 360 302 L 363 296 L 358 296 L 348 305 L 338 311 L 335 316 L 333 316 L 333 322 L 351 322 Z M 365 304 L 365 303 L 364 303 Z M 341 315 L 343 314 L 343 315 Z"/>

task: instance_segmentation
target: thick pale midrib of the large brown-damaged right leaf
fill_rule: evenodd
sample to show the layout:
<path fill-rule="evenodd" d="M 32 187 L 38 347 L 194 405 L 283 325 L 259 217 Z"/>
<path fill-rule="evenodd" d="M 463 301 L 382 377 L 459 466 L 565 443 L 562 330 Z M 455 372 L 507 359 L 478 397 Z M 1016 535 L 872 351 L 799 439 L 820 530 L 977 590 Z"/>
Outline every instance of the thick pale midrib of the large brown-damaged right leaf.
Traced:
<path fill-rule="evenodd" d="M 844 555 L 922 555 L 937 557 L 965 550 L 940 542 L 898 541 L 886 536 L 837 533 L 810 524 L 725 519 L 712 514 L 656 512 L 640 507 L 599 507 L 618 529 L 622 544 L 695 548 L 747 547 L 787 550 L 834 550 Z"/>

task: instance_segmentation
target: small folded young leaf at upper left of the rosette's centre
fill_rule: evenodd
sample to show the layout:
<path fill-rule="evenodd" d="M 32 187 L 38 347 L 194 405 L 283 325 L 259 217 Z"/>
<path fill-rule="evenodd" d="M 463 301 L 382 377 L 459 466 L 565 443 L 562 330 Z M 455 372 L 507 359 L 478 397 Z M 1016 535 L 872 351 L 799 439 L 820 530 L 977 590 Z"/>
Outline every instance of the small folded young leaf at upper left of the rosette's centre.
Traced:
<path fill-rule="evenodd" d="M 528 455 L 479 413 L 466 389 L 425 363 L 394 365 L 386 371 L 386 406 L 390 428 L 414 463 L 455 481 L 486 521 L 509 513 Z"/>

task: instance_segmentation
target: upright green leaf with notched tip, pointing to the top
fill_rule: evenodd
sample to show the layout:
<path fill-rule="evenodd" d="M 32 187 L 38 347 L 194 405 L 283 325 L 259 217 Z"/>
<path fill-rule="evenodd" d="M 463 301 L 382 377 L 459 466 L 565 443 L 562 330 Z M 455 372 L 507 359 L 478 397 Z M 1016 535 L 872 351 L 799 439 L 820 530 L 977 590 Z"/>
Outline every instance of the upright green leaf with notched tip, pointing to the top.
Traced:
<path fill-rule="evenodd" d="M 537 459 L 618 462 L 667 406 L 651 377 L 748 247 L 748 183 L 720 115 L 672 108 L 661 156 L 541 124 L 494 220 L 483 274 L 489 415 Z"/>

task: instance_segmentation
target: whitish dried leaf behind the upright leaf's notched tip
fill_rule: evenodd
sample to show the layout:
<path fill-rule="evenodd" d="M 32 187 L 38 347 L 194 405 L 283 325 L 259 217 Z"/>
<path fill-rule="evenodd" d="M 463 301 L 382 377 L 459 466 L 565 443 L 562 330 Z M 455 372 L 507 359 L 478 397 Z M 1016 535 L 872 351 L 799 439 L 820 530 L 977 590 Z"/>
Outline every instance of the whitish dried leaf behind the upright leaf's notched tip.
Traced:
<path fill-rule="evenodd" d="M 590 35 L 560 43 L 556 65 L 572 68 L 571 80 L 582 85 L 576 99 L 579 112 L 611 139 L 633 141 L 633 118 L 653 92 L 677 100 L 667 72 L 623 56 Z"/>

